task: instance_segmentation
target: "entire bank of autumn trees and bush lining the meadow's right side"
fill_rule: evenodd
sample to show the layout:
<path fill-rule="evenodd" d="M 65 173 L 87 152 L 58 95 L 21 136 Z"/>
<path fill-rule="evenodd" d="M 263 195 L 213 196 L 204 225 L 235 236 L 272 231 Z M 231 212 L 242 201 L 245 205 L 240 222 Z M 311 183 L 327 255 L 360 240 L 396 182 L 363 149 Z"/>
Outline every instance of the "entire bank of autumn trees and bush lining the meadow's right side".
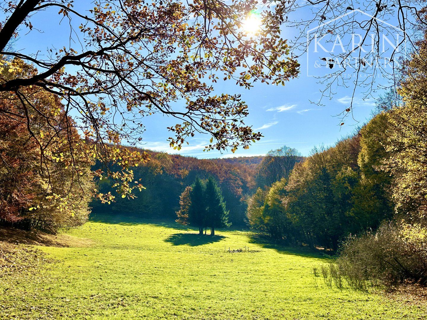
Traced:
<path fill-rule="evenodd" d="M 339 272 L 358 285 L 427 282 L 427 32 L 417 46 L 366 125 L 249 200 L 259 232 L 333 250 L 344 241 Z"/>

